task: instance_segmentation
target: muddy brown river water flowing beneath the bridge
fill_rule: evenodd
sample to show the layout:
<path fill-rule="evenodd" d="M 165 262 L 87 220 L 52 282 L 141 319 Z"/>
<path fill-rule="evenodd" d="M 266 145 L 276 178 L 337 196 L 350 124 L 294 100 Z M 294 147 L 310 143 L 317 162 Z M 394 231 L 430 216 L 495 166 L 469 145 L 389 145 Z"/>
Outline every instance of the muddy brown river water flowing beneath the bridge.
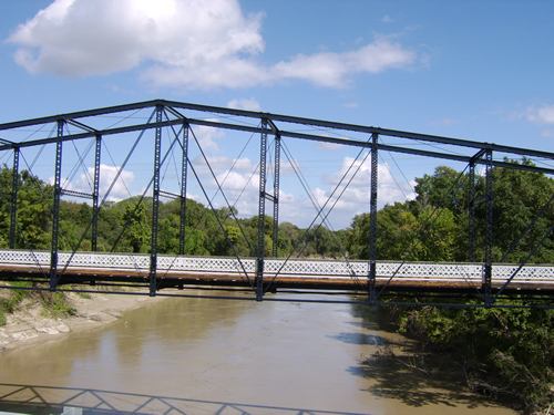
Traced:
<path fill-rule="evenodd" d="M 167 299 L 107 326 L 0 354 L 0 396 L 19 384 L 112 400 L 99 407 L 135 401 L 127 408 L 135 411 L 147 401 L 142 412 L 512 413 L 462 392 L 448 371 L 413 369 L 406 340 L 362 313 L 351 304 Z M 373 356 L 390 347 L 398 359 Z M 91 390 L 106 392 L 91 397 Z"/>

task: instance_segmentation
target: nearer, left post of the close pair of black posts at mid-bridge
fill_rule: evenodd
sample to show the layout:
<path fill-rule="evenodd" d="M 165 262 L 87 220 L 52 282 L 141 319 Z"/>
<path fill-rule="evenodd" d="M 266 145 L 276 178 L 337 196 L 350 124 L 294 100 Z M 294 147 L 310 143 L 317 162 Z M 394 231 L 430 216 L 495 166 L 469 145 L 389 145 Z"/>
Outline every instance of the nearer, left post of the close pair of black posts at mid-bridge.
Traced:
<path fill-rule="evenodd" d="M 256 301 L 264 298 L 264 257 L 266 237 L 266 156 L 267 156 L 267 120 L 261 120 L 259 141 L 259 196 L 258 196 L 258 251 L 256 258 Z"/>

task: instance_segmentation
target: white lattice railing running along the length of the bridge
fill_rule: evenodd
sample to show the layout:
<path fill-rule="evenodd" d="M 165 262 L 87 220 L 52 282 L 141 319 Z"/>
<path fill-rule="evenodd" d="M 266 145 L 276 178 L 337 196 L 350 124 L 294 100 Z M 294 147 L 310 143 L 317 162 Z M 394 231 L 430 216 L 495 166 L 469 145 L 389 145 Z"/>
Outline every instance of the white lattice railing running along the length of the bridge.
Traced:
<path fill-rule="evenodd" d="M 71 260 L 71 262 L 69 262 Z M 242 264 L 240 264 L 242 262 Z M 254 276 L 256 259 L 244 258 L 240 262 L 229 257 L 184 257 L 158 256 L 157 269 L 171 273 L 213 273 L 242 274 L 244 270 Z M 329 259 L 290 259 L 283 266 L 284 259 L 267 259 L 265 274 L 271 277 L 297 278 L 355 278 L 366 279 L 368 261 L 345 261 Z M 29 250 L 0 250 L 0 264 L 9 267 L 37 267 L 48 269 L 50 252 Z M 148 255 L 142 253 L 98 253 L 60 252 L 59 269 L 105 269 L 129 270 L 147 274 L 150 268 Z M 506 281 L 519 268 L 517 264 L 495 263 L 492 267 L 492 278 L 495 281 Z M 468 262 L 399 262 L 378 261 L 377 276 L 381 279 L 393 277 L 398 280 L 448 280 L 448 281 L 481 281 L 483 276 L 482 263 Z M 552 282 L 554 283 L 554 266 L 533 264 L 524 266 L 514 278 L 516 282 Z"/>

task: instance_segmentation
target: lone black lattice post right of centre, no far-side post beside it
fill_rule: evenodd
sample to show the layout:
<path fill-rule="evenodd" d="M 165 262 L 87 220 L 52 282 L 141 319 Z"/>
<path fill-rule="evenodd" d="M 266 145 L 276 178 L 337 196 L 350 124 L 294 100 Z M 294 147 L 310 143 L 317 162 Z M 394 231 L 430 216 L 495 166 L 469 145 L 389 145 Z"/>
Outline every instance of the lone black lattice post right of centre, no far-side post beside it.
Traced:
<path fill-rule="evenodd" d="M 377 187 L 378 187 L 378 144 L 379 135 L 371 134 L 371 189 L 369 199 L 369 302 L 372 303 L 376 298 L 376 281 L 377 281 Z"/>

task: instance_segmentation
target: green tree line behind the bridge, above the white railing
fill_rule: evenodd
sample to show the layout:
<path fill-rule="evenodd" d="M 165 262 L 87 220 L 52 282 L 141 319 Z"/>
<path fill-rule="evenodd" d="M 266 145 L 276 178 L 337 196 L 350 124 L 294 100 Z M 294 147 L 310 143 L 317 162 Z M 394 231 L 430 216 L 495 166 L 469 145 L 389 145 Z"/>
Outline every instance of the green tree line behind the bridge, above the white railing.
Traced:
<path fill-rule="evenodd" d="M 530 162 L 524 162 L 530 163 Z M 554 222 L 554 180 L 542 174 L 494 168 L 494 261 L 554 262 L 554 238 L 544 237 Z M 17 240 L 20 249 L 50 249 L 53 187 L 23 170 L 18 176 Z M 438 167 L 416 179 L 416 198 L 387 205 L 378 211 L 378 259 L 468 261 L 469 174 Z M 12 172 L 0 169 L 0 247 L 8 246 Z M 475 258 L 485 247 L 484 177 L 475 177 Z M 158 252 L 179 249 L 179 200 L 160 205 Z M 185 253 L 198 256 L 256 256 L 258 218 L 239 218 L 236 209 L 186 200 Z M 60 250 L 91 250 L 92 206 L 62 199 Z M 98 250 L 148 252 L 152 199 L 131 197 L 109 201 L 99 216 Z M 266 255 L 273 251 L 273 219 L 265 217 Z M 324 225 L 302 229 L 279 224 L 278 256 L 368 259 L 370 215 L 356 216 L 348 228 L 330 230 Z M 532 227 L 530 225 L 533 225 Z M 222 229 L 223 228 L 223 229 Z M 529 253 L 533 255 L 529 257 Z"/>

